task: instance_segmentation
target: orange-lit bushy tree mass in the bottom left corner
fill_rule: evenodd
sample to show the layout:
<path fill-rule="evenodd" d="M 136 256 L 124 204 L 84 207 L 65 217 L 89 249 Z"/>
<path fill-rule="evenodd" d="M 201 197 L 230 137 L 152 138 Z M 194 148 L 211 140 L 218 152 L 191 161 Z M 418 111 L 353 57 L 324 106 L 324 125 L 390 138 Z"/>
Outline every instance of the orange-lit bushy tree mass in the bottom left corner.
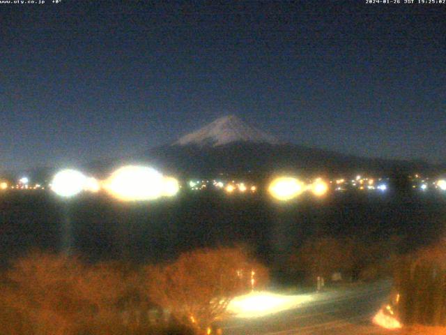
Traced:
<path fill-rule="evenodd" d="M 37 252 L 15 261 L 6 280 L 1 303 L 32 329 L 27 334 L 70 335 L 120 323 L 116 305 L 125 281 L 110 265 L 87 267 L 74 257 Z"/>

